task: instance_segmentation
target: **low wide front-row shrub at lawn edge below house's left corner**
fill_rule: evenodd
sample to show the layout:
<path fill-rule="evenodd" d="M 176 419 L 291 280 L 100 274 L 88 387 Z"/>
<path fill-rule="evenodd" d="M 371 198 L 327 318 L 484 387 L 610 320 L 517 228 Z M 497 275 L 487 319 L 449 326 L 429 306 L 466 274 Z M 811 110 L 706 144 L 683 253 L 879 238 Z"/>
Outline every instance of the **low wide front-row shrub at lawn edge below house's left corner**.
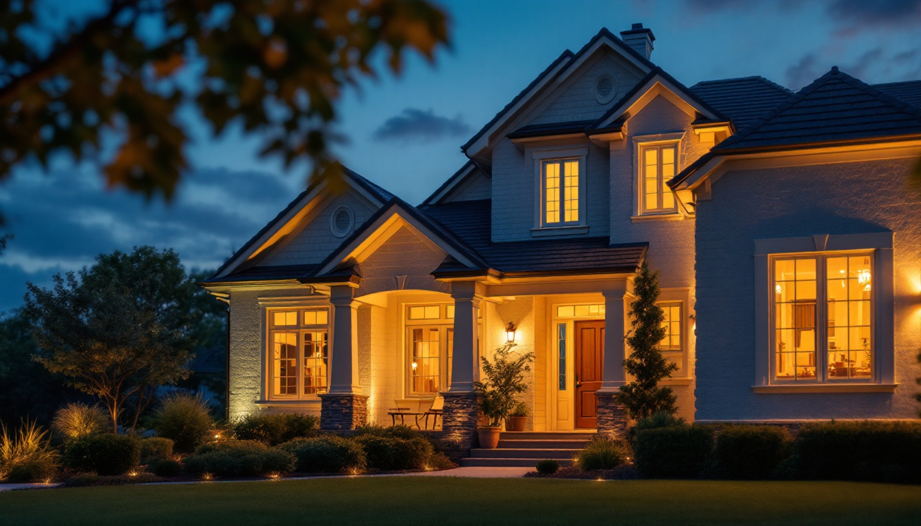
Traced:
<path fill-rule="evenodd" d="M 255 440 L 224 440 L 204 444 L 184 459 L 189 473 L 218 476 L 256 476 L 294 471 L 296 458 L 285 450 L 271 450 Z"/>

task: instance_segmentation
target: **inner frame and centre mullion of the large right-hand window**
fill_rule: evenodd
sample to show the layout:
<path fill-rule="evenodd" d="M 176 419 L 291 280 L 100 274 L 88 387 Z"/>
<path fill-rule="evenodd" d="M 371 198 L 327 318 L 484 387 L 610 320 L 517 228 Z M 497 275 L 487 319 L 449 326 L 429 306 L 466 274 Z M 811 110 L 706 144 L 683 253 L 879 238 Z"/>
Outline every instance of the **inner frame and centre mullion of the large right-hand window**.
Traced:
<path fill-rule="evenodd" d="M 774 300 L 771 301 L 771 316 L 770 316 L 770 332 L 769 332 L 769 334 L 770 334 L 770 340 L 771 340 L 771 341 L 770 341 L 770 349 L 771 349 L 770 370 L 771 370 L 771 379 L 772 379 L 772 381 L 777 382 L 777 383 L 793 383 L 793 382 L 797 382 L 797 383 L 830 383 L 830 382 L 841 382 L 841 381 L 850 381 L 850 382 L 872 382 L 872 381 L 876 381 L 875 379 L 876 379 L 876 365 L 877 365 L 877 364 L 874 363 L 874 360 L 875 360 L 876 357 L 875 357 L 875 354 L 872 352 L 873 342 L 874 342 L 874 338 L 875 338 L 875 327 L 874 327 L 874 323 L 875 323 L 875 319 L 876 319 L 876 318 L 875 318 L 875 317 L 876 317 L 876 313 L 875 313 L 875 305 L 874 305 L 875 302 L 874 302 L 874 300 L 873 300 L 873 295 L 872 295 L 872 293 L 870 293 L 870 294 L 868 295 L 868 298 L 869 298 L 868 300 L 869 300 L 869 302 L 870 302 L 870 310 L 869 310 L 869 323 L 870 323 L 869 328 L 870 328 L 870 331 L 869 331 L 869 347 L 868 347 L 868 349 L 869 349 L 869 351 L 870 351 L 870 357 L 869 357 L 869 376 L 861 376 L 861 377 L 852 377 L 852 376 L 848 376 L 848 377 L 846 377 L 846 378 L 845 378 L 845 377 L 832 377 L 831 374 L 830 374 L 830 371 L 832 370 L 832 368 L 830 367 L 831 364 L 829 363 L 829 360 L 828 360 L 828 358 L 829 358 L 829 356 L 830 356 L 829 348 L 828 348 L 828 341 L 829 341 L 829 333 L 828 333 L 829 315 L 828 315 L 828 310 L 829 310 L 829 303 L 831 303 L 830 298 L 829 298 L 828 286 L 829 286 L 829 282 L 838 281 L 838 280 L 835 280 L 835 279 L 829 279 L 829 278 L 828 278 L 828 275 L 829 275 L 829 272 L 828 272 L 828 263 L 829 263 L 829 260 L 833 260 L 833 259 L 835 259 L 835 258 L 842 258 L 842 257 L 847 257 L 847 258 L 851 258 L 851 257 L 855 257 L 855 258 L 866 258 L 866 259 L 869 261 L 869 273 L 870 273 L 870 277 L 871 277 L 871 279 L 875 279 L 876 269 L 875 269 L 874 254 L 875 254 L 875 251 L 843 251 L 843 252 L 837 252 L 837 253 L 809 253 L 809 252 L 804 252 L 804 253 L 796 253 L 796 254 L 772 255 L 772 256 L 770 257 L 770 260 L 769 260 L 769 262 L 770 262 L 770 264 L 769 264 L 769 270 L 770 270 L 770 280 L 769 280 L 769 283 L 770 283 L 770 287 L 771 287 L 770 294 L 771 294 L 772 297 L 775 297 L 775 289 L 776 289 L 776 285 L 777 285 L 777 284 L 776 284 L 776 279 L 775 279 L 775 277 L 776 277 L 776 273 L 775 273 L 775 268 L 776 268 L 775 265 L 776 265 L 776 262 L 778 262 L 778 261 L 785 261 L 785 260 L 796 260 L 796 259 L 814 259 L 814 260 L 816 261 L 816 275 L 815 275 L 816 293 L 815 293 L 815 297 L 817 298 L 817 299 L 816 299 L 816 308 L 815 308 L 815 325 L 816 325 L 816 331 L 815 331 L 815 342 L 816 342 L 816 345 L 815 345 L 815 349 L 816 349 L 816 350 L 815 350 L 815 352 L 814 352 L 814 353 L 815 353 L 815 360 L 816 360 L 816 363 L 815 363 L 816 374 L 815 374 L 815 378 L 810 378 L 810 379 L 807 379 L 807 380 L 787 380 L 786 378 L 778 378 L 778 377 L 777 377 L 777 373 L 776 373 L 776 355 L 777 355 L 777 348 L 776 348 L 776 347 L 777 347 L 777 345 L 776 345 L 776 342 L 775 342 L 775 336 L 776 336 L 776 327 L 775 327 L 775 325 L 776 325 L 776 321 L 777 321 L 777 314 L 776 314 L 776 308 L 775 308 L 775 301 L 774 301 Z M 788 280 L 788 281 L 792 281 L 792 280 Z M 872 281 L 871 281 L 871 283 L 872 283 Z M 861 299 L 860 301 L 862 301 L 862 300 L 863 300 L 863 299 Z M 863 350 L 863 349 L 859 349 L 858 352 L 859 352 L 859 351 L 862 351 L 862 350 Z M 840 349 L 836 349 L 836 351 L 837 351 L 837 352 L 840 352 Z"/>

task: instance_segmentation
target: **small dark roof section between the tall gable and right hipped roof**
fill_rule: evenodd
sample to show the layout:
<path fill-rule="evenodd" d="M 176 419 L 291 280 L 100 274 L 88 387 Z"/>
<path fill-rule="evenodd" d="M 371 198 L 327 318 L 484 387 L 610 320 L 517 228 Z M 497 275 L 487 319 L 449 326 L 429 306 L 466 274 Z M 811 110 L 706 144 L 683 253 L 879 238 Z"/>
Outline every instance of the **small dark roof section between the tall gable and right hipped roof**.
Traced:
<path fill-rule="evenodd" d="M 764 76 L 705 80 L 694 84 L 690 89 L 711 106 L 728 115 L 737 130 L 793 95 L 789 89 L 771 82 Z"/>

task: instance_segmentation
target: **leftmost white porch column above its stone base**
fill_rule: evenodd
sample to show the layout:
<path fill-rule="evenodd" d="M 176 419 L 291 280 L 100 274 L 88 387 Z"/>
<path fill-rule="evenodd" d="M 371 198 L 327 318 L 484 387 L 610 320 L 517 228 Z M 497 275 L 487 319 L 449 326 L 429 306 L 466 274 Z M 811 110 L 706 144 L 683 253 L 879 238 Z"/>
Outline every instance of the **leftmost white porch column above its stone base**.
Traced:
<path fill-rule="evenodd" d="M 332 303 L 332 348 L 330 349 L 330 393 L 361 394 L 358 385 L 358 302 L 355 288 L 330 287 Z"/>

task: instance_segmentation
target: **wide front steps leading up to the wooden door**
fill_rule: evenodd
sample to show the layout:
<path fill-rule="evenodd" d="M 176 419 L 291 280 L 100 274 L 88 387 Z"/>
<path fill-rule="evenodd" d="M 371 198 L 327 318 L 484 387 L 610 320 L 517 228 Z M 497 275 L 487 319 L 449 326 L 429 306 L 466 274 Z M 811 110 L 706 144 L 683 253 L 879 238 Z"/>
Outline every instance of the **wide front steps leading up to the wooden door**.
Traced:
<path fill-rule="evenodd" d="M 580 451 L 595 436 L 579 431 L 503 431 L 495 450 L 472 449 L 461 466 L 534 467 L 543 459 L 554 459 L 561 466 L 572 464 L 573 453 Z"/>

